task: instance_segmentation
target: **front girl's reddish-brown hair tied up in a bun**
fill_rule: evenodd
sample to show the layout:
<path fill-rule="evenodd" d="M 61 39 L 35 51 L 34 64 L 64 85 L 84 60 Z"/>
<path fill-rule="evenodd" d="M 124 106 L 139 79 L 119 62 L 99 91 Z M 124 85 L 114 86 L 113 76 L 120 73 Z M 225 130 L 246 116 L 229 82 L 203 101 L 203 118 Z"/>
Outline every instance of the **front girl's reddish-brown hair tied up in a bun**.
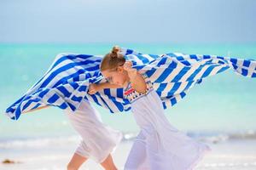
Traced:
<path fill-rule="evenodd" d="M 113 70 L 119 65 L 125 64 L 125 57 L 124 55 L 119 54 L 119 52 L 120 48 L 118 46 L 114 46 L 112 51 L 104 56 L 100 66 L 101 71 Z"/>

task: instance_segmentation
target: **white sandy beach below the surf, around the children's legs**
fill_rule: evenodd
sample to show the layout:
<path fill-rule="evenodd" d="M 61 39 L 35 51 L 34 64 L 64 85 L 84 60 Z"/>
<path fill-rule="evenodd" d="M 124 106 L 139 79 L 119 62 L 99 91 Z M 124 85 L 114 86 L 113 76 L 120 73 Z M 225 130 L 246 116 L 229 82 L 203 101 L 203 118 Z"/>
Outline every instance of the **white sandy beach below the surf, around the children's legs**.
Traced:
<path fill-rule="evenodd" d="M 113 158 L 119 169 L 125 164 L 132 142 L 123 142 L 113 153 Z M 209 144 L 212 152 L 207 154 L 196 170 L 255 170 L 256 140 L 243 139 Z M 73 155 L 76 144 L 56 144 L 55 146 L 40 146 L 38 148 L 0 150 L 0 160 L 6 158 L 18 161 L 11 164 L 0 164 L 1 170 L 62 170 Z M 102 170 L 94 161 L 87 161 L 80 169 Z"/>

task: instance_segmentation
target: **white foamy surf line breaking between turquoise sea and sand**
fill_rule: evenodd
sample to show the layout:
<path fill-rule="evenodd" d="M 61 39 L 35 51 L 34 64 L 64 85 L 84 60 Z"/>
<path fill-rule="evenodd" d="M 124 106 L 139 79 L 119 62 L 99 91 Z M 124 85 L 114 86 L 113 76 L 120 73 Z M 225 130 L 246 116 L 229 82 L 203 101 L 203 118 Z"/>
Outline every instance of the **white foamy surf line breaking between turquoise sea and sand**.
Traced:
<path fill-rule="evenodd" d="M 256 139 L 256 131 L 249 130 L 242 133 L 200 133 L 200 132 L 189 132 L 187 135 L 193 139 L 200 140 L 206 143 L 218 144 L 221 142 L 231 140 L 245 140 L 245 139 Z M 123 133 L 122 142 L 132 141 L 137 137 L 137 133 L 125 132 Z M 60 136 L 60 137 L 40 137 L 40 138 L 12 138 L 12 139 L 1 139 L 0 138 L 0 149 L 24 149 L 24 148 L 39 148 L 46 147 L 49 145 L 65 146 L 67 144 L 79 144 L 81 138 L 78 135 L 72 136 Z"/>

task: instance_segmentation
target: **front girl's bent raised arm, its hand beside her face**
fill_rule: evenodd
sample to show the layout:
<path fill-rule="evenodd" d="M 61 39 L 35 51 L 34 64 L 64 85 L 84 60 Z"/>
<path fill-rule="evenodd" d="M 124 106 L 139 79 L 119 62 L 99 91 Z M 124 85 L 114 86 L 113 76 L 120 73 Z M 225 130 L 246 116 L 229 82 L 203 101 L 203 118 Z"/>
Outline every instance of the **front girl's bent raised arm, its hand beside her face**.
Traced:
<path fill-rule="evenodd" d="M 128 72 L 128 77 L 130 78 L 131 87 L 138 93 L 144 94 L 147 91 L 147 84 L 143 76 L 136 69 L 131 68 L 131 65 L 130 61 L 126 61 L 124 65 L 124 69 Z"/>

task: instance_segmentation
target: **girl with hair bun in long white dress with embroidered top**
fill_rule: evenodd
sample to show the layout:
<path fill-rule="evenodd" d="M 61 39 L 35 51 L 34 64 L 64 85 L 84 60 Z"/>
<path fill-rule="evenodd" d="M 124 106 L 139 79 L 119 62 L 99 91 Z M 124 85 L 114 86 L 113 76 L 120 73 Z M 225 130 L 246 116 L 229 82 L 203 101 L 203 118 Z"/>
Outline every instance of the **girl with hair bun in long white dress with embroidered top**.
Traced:
<path fill-rule="evenodd" d="M 119 54 L 119 48 L 102 59 L 102 75 L 109 84 L 96 85 L 91 93 L 102 88 L 125 88 L 131 112 L 140 127 L 125 163 L 125 170 L 191 170 L 209 147 L 190 139 L 168 122 L 160 97 L 146 75 L 131 68 L 131 62 Z"/>

